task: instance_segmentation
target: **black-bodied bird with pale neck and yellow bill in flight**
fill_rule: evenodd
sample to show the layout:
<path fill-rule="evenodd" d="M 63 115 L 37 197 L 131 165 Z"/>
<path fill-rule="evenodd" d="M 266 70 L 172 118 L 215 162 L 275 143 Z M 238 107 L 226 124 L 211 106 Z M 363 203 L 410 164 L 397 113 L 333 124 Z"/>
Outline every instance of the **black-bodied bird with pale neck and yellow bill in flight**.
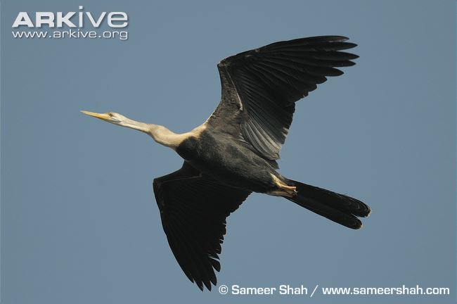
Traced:
<path fill-rule="evenodd" d="M 221 101 L 202 125 L 176 134 L 118 113 L 82 113 L 148 134 L 184 158 L 181 169 L 153 181 L 162 226 L 184 274 L 203 290 L 217 284 L 226 217 L 252 192 L 281 196 L 345 227 L 359 229 L 365 203 L 288 179 L 278 172 L 295 101 L 358 58 L 346 37 L 276 42 L 222 60 Z"/>

